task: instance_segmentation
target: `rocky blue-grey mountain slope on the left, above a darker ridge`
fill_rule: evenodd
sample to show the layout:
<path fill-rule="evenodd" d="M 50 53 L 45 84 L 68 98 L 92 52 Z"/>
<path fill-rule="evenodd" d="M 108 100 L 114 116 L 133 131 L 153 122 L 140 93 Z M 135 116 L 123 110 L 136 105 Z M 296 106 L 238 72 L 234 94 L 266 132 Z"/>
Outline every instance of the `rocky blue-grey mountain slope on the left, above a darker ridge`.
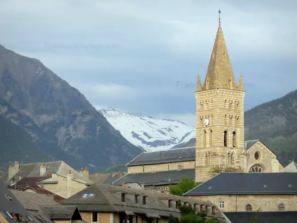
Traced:
<path fill-rule="evenodd" d="M 142 152 L 77 89 L 39 60 L 20 56 L 1 45 L 0 97 L 29 116 L 57 146 L 91 167 L 126 163 Z"/>

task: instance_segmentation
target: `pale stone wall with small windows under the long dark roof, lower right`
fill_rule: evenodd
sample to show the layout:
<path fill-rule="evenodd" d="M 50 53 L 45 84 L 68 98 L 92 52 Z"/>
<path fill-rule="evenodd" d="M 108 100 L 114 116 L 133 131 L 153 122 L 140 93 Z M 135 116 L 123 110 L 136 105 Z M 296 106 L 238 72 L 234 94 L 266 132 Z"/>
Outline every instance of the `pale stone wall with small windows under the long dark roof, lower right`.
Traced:
<path fill-rule="evenodd" d="M 296 195 L 213 195 L 193 196 L 202 201 L 209 201 L 223 212 L 246 211 L 249 204 L 252 211 L 278 211 L 280 204 L 285 205 L 285 211 L 297 210 Z M 224 202 L 224 208 L 219 208 L 219 203 Z"/>

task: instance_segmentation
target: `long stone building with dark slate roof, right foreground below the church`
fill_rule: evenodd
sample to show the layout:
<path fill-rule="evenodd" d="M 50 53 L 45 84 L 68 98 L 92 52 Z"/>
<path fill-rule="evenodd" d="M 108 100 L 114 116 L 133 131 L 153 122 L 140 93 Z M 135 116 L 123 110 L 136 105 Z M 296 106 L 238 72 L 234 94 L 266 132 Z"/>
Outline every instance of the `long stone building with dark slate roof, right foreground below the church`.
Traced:
<path fill-rule="evenodd" d="M 296 211 L 297 173 L 219 173 L 184 195 L 221 212 Z"/>

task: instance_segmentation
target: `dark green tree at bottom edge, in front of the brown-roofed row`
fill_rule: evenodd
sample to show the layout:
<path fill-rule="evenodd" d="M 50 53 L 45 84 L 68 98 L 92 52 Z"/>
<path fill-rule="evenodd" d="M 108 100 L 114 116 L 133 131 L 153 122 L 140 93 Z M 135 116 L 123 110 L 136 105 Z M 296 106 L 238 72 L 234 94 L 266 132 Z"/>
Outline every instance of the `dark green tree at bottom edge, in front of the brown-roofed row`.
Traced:
<path fill-rule="evenodd" d="M 175 219 L 172 215 L 169 216 L 169 223 L 220 223 L 218 219 L 212 218 L 206 220 L 205 212 L 198 212 L 191 205 L 182 205 L 178 202 L 181 218 Z"/>

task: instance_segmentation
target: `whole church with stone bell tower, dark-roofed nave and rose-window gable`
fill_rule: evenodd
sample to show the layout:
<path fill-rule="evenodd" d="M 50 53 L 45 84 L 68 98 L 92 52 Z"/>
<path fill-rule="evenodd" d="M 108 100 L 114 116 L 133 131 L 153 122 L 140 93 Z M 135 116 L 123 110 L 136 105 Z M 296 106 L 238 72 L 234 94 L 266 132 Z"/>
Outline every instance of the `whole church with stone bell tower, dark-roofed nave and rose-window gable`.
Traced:
<path fill-rule="evenodd" d="M 279 172 L 284 167 L 259 140 L 245 141 L 243 73 L 238 84 L 231 66 L 221 22 L 203 85 L 198 74 L 196 146 L 144 152 L 126 166 L 128 174 L 114 185 L 138 183 L 168 192 L 183 177 L 205 182 L 212 167 L 242 172 Z"/>

